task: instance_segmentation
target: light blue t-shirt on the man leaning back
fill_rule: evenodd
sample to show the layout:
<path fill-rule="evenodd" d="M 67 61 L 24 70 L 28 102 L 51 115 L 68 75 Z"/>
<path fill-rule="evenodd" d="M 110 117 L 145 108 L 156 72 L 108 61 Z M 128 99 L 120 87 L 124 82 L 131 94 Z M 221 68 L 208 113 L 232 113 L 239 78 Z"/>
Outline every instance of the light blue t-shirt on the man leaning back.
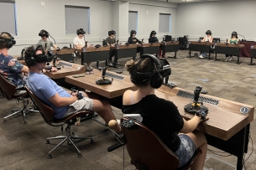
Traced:
<path fill-rule="evenodd" d="M 51 80 L 50 77 L 44 75 L 43 73 L 38 74 L 29 72 L 27 84 L 34 95 L 43 100 L 55 111 L 55 118 L 60 119 L 64 116 L 65 112 L 69 109 L 69 106 L 57 107 L 50 102 L 49 98 L 57 93 L 60 95 L 60 97 L 71 97 L 71 94 L 60 87 L 60 85 L 57 85 L 55 81 Z"/>

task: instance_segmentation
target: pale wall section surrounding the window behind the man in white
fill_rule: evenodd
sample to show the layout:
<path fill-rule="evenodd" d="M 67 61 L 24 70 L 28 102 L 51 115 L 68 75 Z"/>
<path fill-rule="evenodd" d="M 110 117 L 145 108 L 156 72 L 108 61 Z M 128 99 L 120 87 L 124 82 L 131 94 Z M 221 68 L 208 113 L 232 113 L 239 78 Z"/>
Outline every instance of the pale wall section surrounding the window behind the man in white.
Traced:
<path fill-rule="evenodd" d="M 76 34 L 65 34 L 65 5 L 91 8 L 91 34 L 86 33 L 89 44 L 102 44 L 107 32 L 112 28 L 112 2 L 97 0 L 16 0 L 18 35 L 17 45 L 9 54 L 20 54 L 21 49 L 35 44 L 41 29 L 46 29 L 55 38 L 59 47 L 69 46 Z M 80 21 L 77 21 L 80 22 Z"/>

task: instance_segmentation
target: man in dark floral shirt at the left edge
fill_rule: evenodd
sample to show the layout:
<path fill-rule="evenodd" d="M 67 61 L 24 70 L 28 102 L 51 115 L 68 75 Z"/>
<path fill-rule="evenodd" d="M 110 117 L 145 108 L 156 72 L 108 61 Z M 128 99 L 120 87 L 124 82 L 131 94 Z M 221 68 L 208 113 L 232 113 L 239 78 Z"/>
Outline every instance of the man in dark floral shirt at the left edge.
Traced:
<path fill-rule="evenodd" d="M 29 73 L 29 68 L 18 62 L 11 55 L 8 50 L 16 44 L 13 36 L 10 33 L 0 33 L 0 74 L 4 75 L 17 89 L 24 87 L 26 83 L 26 76 Z M 26 93 L 25 90 L 17 90 L 14 95 L 22 95 Z"/>

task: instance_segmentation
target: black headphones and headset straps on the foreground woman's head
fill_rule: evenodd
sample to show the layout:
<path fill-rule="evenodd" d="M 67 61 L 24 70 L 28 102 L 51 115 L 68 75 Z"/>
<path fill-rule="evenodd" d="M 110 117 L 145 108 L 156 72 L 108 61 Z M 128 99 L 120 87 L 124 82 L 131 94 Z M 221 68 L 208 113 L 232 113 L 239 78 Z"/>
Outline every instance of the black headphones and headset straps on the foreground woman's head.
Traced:
<path fill-rule="evenodd" d="M 153 70 L 152 72 L 147 72 L 147 73 L 140 73 L 138 72 L 138 66 L 141 64 L 144 59 L 151 59 L 151 61 L 156 65 L 157 70 Z M 147 83 L 150 79 L 150 86 L 153 87 L 154 89 L 158 89 L 162 83 L 163 83 L 163 76 L 160 75 L 160 72 L 163 73 L 163 67 L 159 63 L 159 59 L 157 59 L 154 55 L 152 54 L 144 54 L 140 58 L 140 61 L 138 61 L 137 64 L 134 65 L 134 69 L 130 71 L 130 79 L 135 85 L 143 85 Z M 135 77 L 140 77 L 144 80 L 134 80 Z"/>

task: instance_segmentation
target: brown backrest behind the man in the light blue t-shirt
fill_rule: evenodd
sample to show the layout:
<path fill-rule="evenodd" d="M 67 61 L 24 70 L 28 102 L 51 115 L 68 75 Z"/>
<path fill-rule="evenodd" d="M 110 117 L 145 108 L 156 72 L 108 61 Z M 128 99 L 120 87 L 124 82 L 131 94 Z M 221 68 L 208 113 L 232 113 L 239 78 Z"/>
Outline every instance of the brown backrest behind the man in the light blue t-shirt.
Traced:
<path fill-rule="evenodd" d="M 39 111 L 43 116 L 44 121 L 47 124 L 51 124 L 53 122 L 55 111 L 50 106 L 45 104 L 43 100 L 40 100 L 37 96 L 35 96 L 34 93 L 31 90 L 29 90 L 29 87 L 27 85 L 25 85 L 25 88 L 28 91 L 31 100 L 33 100 L 34 105 L 39 108 Z"/>

